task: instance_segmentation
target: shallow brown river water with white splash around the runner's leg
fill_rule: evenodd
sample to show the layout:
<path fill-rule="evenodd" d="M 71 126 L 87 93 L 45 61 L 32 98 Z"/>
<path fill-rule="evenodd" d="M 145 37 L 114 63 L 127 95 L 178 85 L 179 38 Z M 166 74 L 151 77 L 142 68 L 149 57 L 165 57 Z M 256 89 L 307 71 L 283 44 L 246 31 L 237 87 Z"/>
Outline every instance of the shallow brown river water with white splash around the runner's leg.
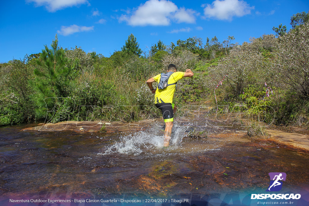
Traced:
<path fill-rule="evenodd" d="M 157 127 L 131 134 L 20 129 L 0 128 L 0 195 L 265 191 L 269 172 L 286 172 L 285 188 L 308 185 L 308 153 L 248 139 L 237 127 L 199 127 L 207 137 L 189 138 L 192 127 L 176 123 L 167 149 Z"/>

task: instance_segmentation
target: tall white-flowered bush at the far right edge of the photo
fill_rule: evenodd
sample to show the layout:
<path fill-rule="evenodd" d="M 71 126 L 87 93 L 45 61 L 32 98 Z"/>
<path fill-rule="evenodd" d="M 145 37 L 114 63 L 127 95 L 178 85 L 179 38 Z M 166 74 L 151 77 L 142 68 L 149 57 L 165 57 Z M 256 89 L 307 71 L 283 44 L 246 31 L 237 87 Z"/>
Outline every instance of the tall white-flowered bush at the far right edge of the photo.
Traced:
<path fill-rule="evenodd" d="M 276 52 L 277 83 L 272 107 L 277 124 L 309 125 L 309 24 L 279 36 Z M 280 92 L 279 92 L 280 91 Z"/>

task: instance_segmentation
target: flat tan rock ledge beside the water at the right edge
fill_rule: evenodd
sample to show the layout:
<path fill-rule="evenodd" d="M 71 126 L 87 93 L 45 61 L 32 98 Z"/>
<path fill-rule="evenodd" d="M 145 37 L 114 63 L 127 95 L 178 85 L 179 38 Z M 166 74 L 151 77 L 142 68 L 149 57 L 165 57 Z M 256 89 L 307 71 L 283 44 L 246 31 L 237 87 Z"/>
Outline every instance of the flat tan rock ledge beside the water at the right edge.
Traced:
<path fill-rule="evenodd" d="M 281 132 L 277 130 L 267 130 L 267 132 L 270 136 L 267 140 L 295 149 L 309 151 L 309 135 Z"/>

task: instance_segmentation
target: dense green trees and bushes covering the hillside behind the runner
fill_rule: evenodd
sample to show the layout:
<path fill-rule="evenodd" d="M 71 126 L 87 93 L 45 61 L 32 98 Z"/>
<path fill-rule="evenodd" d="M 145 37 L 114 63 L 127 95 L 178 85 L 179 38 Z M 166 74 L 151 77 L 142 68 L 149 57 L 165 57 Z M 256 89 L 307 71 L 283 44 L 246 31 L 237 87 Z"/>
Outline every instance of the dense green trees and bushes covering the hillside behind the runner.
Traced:
<path fill-rule="evenodd" d="M 172 63 L 179 71 L 194 72 L 178 82 L 174 102 L 179 107 L 208 100 L 218 103 L 218 111 L 227 105 L 229 111 L 263 114 L 265 122 L 308 127 L 309 25 L 308 19 L 295 23 L 292 18 L 289 32 L 279 25 L 273 28 L 276 36 L 242 45 L 233 36 L 222 43 L 216 36 L 204 43 L 192 37 L 176 45 L 159 40 L 143 53 L 131 34 L 110 57 L 60 48 L 56 35 L 41 53 L 0 64 L 0 125 L 159 116 L 145 81 Z"/>

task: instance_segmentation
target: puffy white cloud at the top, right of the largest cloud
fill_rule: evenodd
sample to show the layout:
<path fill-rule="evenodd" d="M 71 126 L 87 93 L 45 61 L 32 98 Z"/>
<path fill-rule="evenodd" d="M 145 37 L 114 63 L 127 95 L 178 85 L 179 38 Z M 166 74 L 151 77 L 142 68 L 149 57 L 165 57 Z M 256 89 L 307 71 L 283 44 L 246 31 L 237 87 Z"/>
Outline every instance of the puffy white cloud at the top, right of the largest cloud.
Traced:
<path fill-rule="evenodd" d="M 234 16 L 241 17 L 251 14 L 254 6 L 242 0 L 215 0 L 214 2 L 205 6 L 204 14 L 207 18 L 216 18 L 220 20 L 232 20 Z"/>

